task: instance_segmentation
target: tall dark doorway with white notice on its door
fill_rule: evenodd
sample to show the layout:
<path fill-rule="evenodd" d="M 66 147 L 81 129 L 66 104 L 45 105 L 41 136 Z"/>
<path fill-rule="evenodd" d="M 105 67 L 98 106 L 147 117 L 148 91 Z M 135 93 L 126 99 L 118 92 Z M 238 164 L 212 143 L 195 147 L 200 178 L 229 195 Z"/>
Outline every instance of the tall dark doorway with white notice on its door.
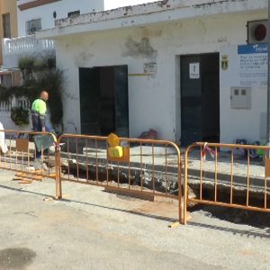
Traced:
<path fill-rule="evenodd" d="M 181 57 L 181 144 L 220 141 L 219 54 Z"/>

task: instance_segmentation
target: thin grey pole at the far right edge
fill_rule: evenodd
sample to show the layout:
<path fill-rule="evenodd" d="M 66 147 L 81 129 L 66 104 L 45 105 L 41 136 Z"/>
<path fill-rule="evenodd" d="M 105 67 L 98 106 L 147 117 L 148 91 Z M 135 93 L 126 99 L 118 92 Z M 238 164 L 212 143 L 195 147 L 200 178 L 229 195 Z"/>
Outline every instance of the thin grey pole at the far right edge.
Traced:
<path fill-rule="evenodd" d="M 268 55 L 268 76 L 267 76 L 267 115 L 266 115 L 266 145 L 270 145 L 270 4 L 268 1 L 267 21 L 267 55 Z M 269 157 L 269 153 L 267 155 Z"/>

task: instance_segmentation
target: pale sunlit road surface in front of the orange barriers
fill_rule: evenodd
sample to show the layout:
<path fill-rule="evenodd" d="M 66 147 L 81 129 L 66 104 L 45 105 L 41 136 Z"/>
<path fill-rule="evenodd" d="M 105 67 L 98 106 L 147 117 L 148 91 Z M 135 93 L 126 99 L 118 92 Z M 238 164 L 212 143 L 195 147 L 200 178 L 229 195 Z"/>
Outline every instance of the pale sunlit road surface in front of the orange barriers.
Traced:
<path fill-rule="evenodd" d="M 172 202 L 74 183 L 54 201 L 52 180 L 19 184 L 13 176 L 0 170 L 0 269 L 270 269 L 267 222 L 201 209 L 170 229 Z"/>

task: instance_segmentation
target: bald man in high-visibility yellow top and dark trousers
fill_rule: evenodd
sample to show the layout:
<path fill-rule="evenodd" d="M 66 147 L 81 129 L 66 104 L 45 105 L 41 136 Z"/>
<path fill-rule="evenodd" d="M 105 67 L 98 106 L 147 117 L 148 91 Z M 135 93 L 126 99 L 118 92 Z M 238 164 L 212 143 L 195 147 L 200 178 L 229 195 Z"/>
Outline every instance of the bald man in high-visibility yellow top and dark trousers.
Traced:
<path fill-rule="evenodd" d="M 31 123 L 33 131 L 46 131 L 46 112 L 47 112 L 47 100 L 49 94 L 47 91 L 42 91 L 40 97 L 31 104 Z M 41 152 L 36 148 L 36 158 L 41 157 Z"/>

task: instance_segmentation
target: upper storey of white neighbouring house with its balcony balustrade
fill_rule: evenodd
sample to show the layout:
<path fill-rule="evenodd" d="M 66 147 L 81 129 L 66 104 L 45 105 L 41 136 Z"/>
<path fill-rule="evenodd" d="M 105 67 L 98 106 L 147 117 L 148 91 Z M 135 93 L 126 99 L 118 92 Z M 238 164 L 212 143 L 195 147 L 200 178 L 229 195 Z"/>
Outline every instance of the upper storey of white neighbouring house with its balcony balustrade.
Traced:
<path fill-rule="evenodd" d="M 53 28 L 60 18 L 102 10 L 101 0 L 18 0 L 18 38 L 3 40 L 3 66 L 18 67 L 22 56 L 54 54 L 53 40 L 36 40 L 36 31 Z"/>

